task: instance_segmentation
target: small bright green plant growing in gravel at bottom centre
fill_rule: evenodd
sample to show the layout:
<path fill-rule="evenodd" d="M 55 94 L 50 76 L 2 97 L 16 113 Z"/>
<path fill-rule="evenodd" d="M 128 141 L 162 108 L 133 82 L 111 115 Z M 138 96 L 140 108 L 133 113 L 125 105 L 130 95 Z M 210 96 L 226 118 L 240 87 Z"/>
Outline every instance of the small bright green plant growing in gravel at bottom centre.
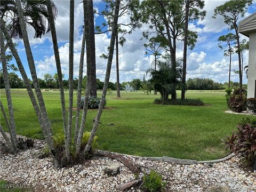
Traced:
<path fill-rule="evenodd" d="M 162 175 L 153 170 L 149 174 L 144 174 L 143 182 L 143 188 L 150 192 L 162 191 L 166 185 L 162 180 Z"/>

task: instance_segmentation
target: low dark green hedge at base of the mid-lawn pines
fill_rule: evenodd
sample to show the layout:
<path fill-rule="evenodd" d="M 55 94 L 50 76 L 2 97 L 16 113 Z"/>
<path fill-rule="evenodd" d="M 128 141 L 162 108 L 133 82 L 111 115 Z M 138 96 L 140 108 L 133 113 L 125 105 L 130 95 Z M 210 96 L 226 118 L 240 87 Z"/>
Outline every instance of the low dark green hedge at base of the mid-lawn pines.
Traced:
<path fill-rule="evenodd" d="M 176 99 L 171 100 L 168 99 L 167 101 L 163 101 L 162 99 L 155 99 L 155 104 L 162 104 L 162 105 L 184 105 L 184 106 L 203 106 L 204 102 L 201 99 Z"/>

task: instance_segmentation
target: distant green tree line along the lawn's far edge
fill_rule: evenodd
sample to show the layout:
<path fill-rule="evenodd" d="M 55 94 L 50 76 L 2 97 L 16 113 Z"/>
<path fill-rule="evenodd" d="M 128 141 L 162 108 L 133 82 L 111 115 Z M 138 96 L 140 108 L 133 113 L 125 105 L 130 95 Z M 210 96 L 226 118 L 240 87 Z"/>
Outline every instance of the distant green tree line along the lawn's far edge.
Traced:
<path fill-rule="evenodd" d="M 9 84 L 11 89 L 25 89 L 25 83 L 24 81 L 14 72 L 10 72 L 8 74 L 9 77 Z M 62 76 L 64 77 L 64 76 Z M 82 89 L 85 90 L 86 85 L 86 79 L 87 77 L 83 77 L 82 82 Z M 0 89 L 4 89 L 4 79 L 3 79 L 3 72 L 0 72 Z M 33 81 L 29 79 L 29 82 L 31 84 L 31 87 L 34 89 Z M 59 89 L 59 80 L 58 80 L 58 74 L 45 74 L 44 78 L 38 78 L 38 83 L 41 89 Z M 145 75 L 143 76 L 142 80 L 139 78 L 132 79 L 130 82 L 122 82 L 119 83 L 119 87 L 121 90 L 126 90 L 126 85 L 129 84 L 133 90 L 143 90 L 143 91 L 152 91 L 154 90 L 154 84 L 152 84 L 149 80 L 145 79 Z M 225 90 L 227 87 L 238 87 L 238 82 L 225 82 L 225 83 L 219 83 L 214 82 L 210 78 L 189 78 L 186 81 L 187 89 L 188 90 Z M 104 82 L 100 81 L 99 78 L 96 78 L 96 88 L 97 90 L 102 90 L 104 86 Z M 245 86 L 245 85 L 244 85 Z M 63 87 L 65 90 L 68 90 L 68 80 L 63 79 Z M 78 89 L 78 79 L 74 78 L 73 80 L 73 89 Z M 111 90 L 117 90 L 117 82 L 109 82 L 108 89 Z M 177 90 L 181 90 L 181 86 L 177 86 Z"/>

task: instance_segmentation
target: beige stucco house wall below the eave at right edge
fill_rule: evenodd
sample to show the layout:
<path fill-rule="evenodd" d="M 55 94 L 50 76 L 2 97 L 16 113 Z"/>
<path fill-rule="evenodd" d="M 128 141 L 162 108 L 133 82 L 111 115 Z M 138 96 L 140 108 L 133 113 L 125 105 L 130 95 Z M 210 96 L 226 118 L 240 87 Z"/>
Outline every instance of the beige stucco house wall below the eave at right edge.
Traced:
<path fill-rule="evenodd" d="M 256 31 L 249 34 L 249 66 L 247 98 L 256 98 Z"/>

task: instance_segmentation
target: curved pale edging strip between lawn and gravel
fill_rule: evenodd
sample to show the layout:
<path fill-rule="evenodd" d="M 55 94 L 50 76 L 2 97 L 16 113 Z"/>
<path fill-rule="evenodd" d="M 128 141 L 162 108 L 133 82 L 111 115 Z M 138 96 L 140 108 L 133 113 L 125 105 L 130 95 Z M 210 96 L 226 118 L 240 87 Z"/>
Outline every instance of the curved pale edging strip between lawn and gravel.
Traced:
<path fill-rule="evenodd" d="M 104 151 L 104 150 L 98 150 L 98 151 Z M 145 159 L 148 161 L 178 163 L 178 164 L 182 164 L 182 165 L 220 163 L 220 162 L 226 161 L 235 156 L 235 154 L 232 153 L 232 154 L 228 155 L 227 157 L 220 158 L 220 159 L 214 159 L 214 160 L 210 160 L 210 161 L 196 161 L 196 160 L 179 159 L 179 158 L 166 157 L 166 156 L 163 156 L 163 157 L 140 157 L 140 156 L 134 156 L 134 155 L 119 154 L 119 153 L 114 153 L 114 152 L 110 152 L 110 151 L 108 151 L 108 152 L 111 154 L 118 154 L 118 155 L 123 155 L 123 156 L 127 156 L 127 157 L 133 157 L 135 159 Z"/>

